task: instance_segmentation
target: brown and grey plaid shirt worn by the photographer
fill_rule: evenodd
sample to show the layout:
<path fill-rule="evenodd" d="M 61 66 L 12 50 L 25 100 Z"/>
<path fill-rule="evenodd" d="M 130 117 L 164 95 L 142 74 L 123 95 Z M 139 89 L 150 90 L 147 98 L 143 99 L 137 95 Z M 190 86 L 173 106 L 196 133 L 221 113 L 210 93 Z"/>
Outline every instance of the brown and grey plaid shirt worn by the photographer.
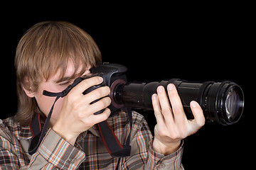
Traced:
<path fill-rule="evenodd" d="M 96 126 L 80 134 L 75 146 L 49 129 L 38 151 L 28 154 L 32 134 L 14 118 L 0 120 L 0 169 L 183 169 L 183 145 L 164 156 L 151 148 L 153 137 L 142 115 L 133 112 L 130 157 L 111 157 Z M 127 113 L 108 118 L 118 140 L 124 144 L 129 135 Z"/>

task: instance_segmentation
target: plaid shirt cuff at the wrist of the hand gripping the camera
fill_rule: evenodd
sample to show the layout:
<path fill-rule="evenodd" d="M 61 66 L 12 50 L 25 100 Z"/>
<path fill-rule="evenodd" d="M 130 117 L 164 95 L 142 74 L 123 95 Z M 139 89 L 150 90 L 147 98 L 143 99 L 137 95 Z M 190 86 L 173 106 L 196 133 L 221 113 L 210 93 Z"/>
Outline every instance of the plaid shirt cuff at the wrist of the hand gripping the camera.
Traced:
<path fill-rule="evenodd" d="M 63 140 L 52 129 L 43 138 L 38 153 L 59 169 L 76 169 L 85 160 L 84 152 Z"/>

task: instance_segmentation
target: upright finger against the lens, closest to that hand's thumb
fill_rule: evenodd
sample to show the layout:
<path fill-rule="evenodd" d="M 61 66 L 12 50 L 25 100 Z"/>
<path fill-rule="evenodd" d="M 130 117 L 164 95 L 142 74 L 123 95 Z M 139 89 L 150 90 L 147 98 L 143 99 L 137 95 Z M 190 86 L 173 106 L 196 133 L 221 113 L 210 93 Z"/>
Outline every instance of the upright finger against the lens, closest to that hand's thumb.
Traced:
<path fill-rule="evenodd" d="M 183 110 L 181 98 L 178 96 L 178 91 L 174 84 L 168 84 L 167 91 L 171 102 L 171 108 L 174 113 L 174 119 L 180 122 L 180 119 L 185 119 L 186 115 Z"/>

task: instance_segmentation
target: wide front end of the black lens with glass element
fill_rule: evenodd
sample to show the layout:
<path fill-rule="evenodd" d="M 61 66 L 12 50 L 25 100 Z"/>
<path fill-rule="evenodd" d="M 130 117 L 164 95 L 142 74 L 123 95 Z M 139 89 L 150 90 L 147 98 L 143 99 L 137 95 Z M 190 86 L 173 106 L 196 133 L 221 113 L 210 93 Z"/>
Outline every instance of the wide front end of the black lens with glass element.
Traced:
<path fill-rule="evenodd" d="M 232 125 L 240 120 L 244 95 L 238 84 L 230 81 L 206 82 L 201 91 L 197 101 L 207 120 L 217 121 L 221 125 Z"/>

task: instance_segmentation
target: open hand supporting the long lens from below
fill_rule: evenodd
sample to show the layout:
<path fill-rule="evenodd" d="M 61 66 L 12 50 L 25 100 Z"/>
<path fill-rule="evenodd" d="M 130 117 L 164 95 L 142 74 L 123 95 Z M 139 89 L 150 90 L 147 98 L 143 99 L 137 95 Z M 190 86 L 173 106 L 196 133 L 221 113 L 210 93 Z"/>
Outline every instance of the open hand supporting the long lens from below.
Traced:
<path fill-rule="evenodd" d="M 205 123 L 203 111 L 196 101 L 191 101 L 194 119 L 188 120 L 183 111 L 181 99 L 174 84 L 167 86 L 169 99 L 163 86 L 152 95 L 152 104 L 156 116 L 153 149 L 161 154 L 176 152 L 181 140 L 197 132 Z"/>

